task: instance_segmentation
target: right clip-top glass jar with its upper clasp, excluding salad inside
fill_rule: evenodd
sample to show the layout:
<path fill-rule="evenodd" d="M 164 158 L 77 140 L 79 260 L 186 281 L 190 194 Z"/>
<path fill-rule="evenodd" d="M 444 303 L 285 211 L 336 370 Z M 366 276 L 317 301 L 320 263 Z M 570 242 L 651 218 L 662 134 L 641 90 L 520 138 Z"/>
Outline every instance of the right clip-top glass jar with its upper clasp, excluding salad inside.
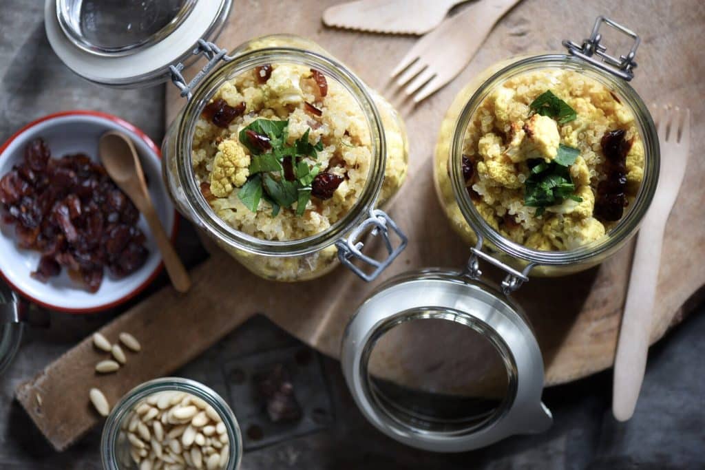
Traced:
<path fill-rule="evenodd" d="M 596 58 L 596 56 L 602 58 L 606 56 L 599 44 L 598 30 L 602 23 L 615 27 L 635 39 L 632 51 L 626 57 L 623 56 L 621 61 L 606 58 L 607 63 L 603 63 Z M 439 141 L 436 144 L 434 164 L 436 192 L 443 211 L 455 231 L 468 244 L 477 245 L 478 249 L 482 245 L 478 244 L 478 239 L 484 240 L 484 246 L 499 261 L 520 271 L 527 270 L 527 273 L 530 271 L 536 276 L 563 276 L 582 271 L 601 263 L 623 247 L 637 232 L 639 223 L 654 197 L 658 180 L 659 151 L 656 128 L 646 105 L 627 83 L 631 78 L 634 66 L 632 61 L 639 44 L 637 36 L 630 30 L 601 17 L 595 23 L 591 39 L 582 46 L 579 47 L 571 42 L 564 42 L 564 44 L 568 47 L 568 54 L 513 58 L 491 66 L 470 82 L 450 106 L 441 124 Z M 594 51 L 597 51 L 595 55 L 593 55 Z M 644 149 L 643 179 L 624 216 L 611 224 L 606 235 L 599 240 L 560 251 L 529 248 L 500 233 L 497 227 L 493 227 L 478 211 L 462 171 L 466 130 L 483 102 L 508 80 L 513 80 L 522 74 L 550 73 L 551 70 L 572 71 L 586 80 L 594 80 L 606 87 L 615 101 L 620 102 L 633 114 L 634 125 Z M 515 216 L 512 218 L 515 220 Z"/>

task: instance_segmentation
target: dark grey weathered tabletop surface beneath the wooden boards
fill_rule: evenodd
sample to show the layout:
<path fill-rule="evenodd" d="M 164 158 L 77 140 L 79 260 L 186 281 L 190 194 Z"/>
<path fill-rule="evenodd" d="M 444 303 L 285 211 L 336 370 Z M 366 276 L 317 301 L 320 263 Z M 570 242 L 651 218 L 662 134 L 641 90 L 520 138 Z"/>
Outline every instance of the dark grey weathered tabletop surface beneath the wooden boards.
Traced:
<path fill-rule="evenodd" d="M 159 142 L 164 132 L 163 87 L 111 90 L 73 75 L 54 56 L 44 37 L 43 4 L 41 0 L 0 0 L 0 142 L 30 120 L 66 109 L 114 113 Z M 178 245 L 190 266 L 206 256 L 187 224 L 182 225 Z M 164 282 L 160 278 L 152 289 Z M 240 404 L 247 399 L 238 395 L 240 388 L 234 385 L 240 383 L 240 369 L 290 361 L 292 357 L 306 361 L 307 373 L 314 374 L 312 388 L 320 403 L 314 425 L 267 428 L 259 443 L 250 439 L 244 470 L 705 469 L 704 310 L 704 305 L 699 306 L 651 350 L 642 397 L 632 421 L 613 421 L 611 373 L 606 372 L 546 390 L 544 402 L 555 418 L 547 433 L 510 438 L 484 450 L 457 455 L 411 450 L 377 433 L 357 412 L 338 363 L 311 352 L 263 318 L 255 318 L 228 335 L 180 374 L 198 378 L 223 393 L 231 404 Z M 119 313 L 32 314 L 33 324 L 27 329 L 18 358 L 0 377 L 0 469 L 101 468 L 100 429 L 58 454 L 13 402 L 12 394 L 20 381 Z M 247 416 L 239 416 L 247 434 L 259 418 L 256 412 L 243 414 Z"/>

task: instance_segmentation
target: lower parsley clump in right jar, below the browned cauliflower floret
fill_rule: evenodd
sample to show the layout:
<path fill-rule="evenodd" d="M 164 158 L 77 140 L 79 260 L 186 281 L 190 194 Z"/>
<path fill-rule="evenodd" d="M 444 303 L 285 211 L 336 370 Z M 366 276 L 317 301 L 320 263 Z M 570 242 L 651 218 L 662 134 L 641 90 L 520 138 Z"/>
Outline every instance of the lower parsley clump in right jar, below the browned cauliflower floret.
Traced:
<path fill-rule="evenodd" d="M 544 160 L 529 160 L 531 174 L 524 187 L 524 204 L 536 207 L 536 216 L 541 216 L 546 207 L 561 204 L 564 199 L 582 202 L 576 196 L 575 185 L 570 178 L 570 167 L 580 155 L 580 150 L 560 144 L 558 155 L 551 163 Z"/>

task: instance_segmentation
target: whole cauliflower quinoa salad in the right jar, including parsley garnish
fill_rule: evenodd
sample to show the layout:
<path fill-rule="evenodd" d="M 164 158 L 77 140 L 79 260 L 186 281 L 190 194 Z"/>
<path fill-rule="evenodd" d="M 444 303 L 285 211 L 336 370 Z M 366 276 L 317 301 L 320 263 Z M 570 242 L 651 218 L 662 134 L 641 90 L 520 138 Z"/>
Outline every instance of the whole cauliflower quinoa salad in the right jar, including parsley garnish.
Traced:
<path fill-rule="evenodd" d="M 572 70 L 505 80 L 474 111 L 463 142 L 463 178 L 477 211 L 532 249 L 601 240 L 635 199 L 643 168 L 632 112 L 605 85 Z M 447 154 L 436 155 L 436 171 L 443 206 L 467 233 Z"/>

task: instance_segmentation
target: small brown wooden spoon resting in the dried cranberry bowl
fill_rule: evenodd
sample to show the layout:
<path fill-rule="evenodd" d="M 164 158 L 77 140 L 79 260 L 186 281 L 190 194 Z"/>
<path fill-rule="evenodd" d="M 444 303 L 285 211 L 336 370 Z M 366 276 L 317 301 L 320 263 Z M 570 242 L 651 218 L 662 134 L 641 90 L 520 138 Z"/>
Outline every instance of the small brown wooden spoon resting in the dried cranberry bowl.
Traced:
<path fill-rule="evenodd" d="M 132 140 L 121 132 L 106 132 L 100 137 L 98 149 L 100 159 L 110 178 L 128 195 L 147 219 L 149 230 L 152 230 L 154 240 L 157 241 L 161 259 L 164 261 L 174 289 L 178 292 L 188 292 L 191 280 L 161 226 L 157 211 L 154 210 L 152 199 L 147 192 L 145 173 L 142 172 L 140 158 L 137 156 Z"/>

